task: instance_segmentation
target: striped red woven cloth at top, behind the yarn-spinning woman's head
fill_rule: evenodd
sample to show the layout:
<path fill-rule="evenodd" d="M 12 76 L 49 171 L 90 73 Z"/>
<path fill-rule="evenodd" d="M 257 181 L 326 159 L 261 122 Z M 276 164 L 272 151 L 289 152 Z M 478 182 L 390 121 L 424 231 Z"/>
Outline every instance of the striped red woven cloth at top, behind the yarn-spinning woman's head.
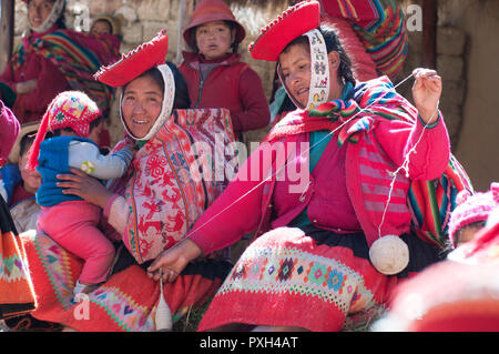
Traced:
<path fill-rule="evenodd" d="M 407 58 L 404 11 L 395 0 L 320 1 L 324 12 L 347 19 L 381 74 L 397 77 Z"/>

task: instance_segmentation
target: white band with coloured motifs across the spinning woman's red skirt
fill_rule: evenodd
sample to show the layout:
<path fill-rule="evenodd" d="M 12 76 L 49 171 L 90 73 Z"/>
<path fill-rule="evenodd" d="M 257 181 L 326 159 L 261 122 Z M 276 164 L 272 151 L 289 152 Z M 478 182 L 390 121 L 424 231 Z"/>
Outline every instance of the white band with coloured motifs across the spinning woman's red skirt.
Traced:
<path fill-rule="evenodd" d="M 279 250 L 277 254 L 265 247 L 251 251 L 237 262 L 220 294 L 245 291 L 312 295 L 334 303 L 345 314 L 374 303 L 361 274 L 336 260 L 297 249 Z"/>

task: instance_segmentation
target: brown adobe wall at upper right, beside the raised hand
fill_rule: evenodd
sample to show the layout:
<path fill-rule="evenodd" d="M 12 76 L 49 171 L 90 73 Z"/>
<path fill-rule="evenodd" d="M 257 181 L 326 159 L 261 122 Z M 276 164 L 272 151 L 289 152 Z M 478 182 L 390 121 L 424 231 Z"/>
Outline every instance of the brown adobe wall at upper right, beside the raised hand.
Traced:
<path fill-rule="evenodd" d="M 437 70 L 444 81 L 440 109 L 451 150 L 475 189 L 486 191 L 490 182 L 499 181 L 499 1 L 439 0 L 437 24 Z M 420 64 L 420 58 L 421 36 L 410 32 L 404 75 Z M 410 85 L 403 91 L 410 97 Z"/>

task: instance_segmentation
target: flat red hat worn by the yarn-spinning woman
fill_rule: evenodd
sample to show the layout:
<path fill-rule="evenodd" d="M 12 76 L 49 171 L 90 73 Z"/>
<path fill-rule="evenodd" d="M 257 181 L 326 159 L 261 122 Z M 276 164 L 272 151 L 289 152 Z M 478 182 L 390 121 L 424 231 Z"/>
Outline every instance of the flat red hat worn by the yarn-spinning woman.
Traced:
<path fill-rule="evenodd" d="M 249 44 L 248 51 L 253 59 L 277 61 L 279 53 L 291 41 L 319 24 L 320 4 L 315 0 L 298 2 L 262 29 L 262 33 Z"/>

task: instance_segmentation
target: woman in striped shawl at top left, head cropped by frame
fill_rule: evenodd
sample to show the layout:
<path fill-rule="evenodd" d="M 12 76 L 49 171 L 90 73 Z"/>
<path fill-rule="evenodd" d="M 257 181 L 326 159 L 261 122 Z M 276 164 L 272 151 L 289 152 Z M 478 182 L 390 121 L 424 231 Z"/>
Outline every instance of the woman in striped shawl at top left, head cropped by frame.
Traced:
<path fill-rule="evenodd" d="M 24 2 L 29 30 L 0 75 L 17 94 L 12 110 L 19 121 L 41 120 L 52 99 L 71 89 L 89 93 L 105 112 L 111 90 L 95 84 L 92 74 L 118 59 L 118 38 L 95 39 L 67 29 L 65 0 Z"/>

